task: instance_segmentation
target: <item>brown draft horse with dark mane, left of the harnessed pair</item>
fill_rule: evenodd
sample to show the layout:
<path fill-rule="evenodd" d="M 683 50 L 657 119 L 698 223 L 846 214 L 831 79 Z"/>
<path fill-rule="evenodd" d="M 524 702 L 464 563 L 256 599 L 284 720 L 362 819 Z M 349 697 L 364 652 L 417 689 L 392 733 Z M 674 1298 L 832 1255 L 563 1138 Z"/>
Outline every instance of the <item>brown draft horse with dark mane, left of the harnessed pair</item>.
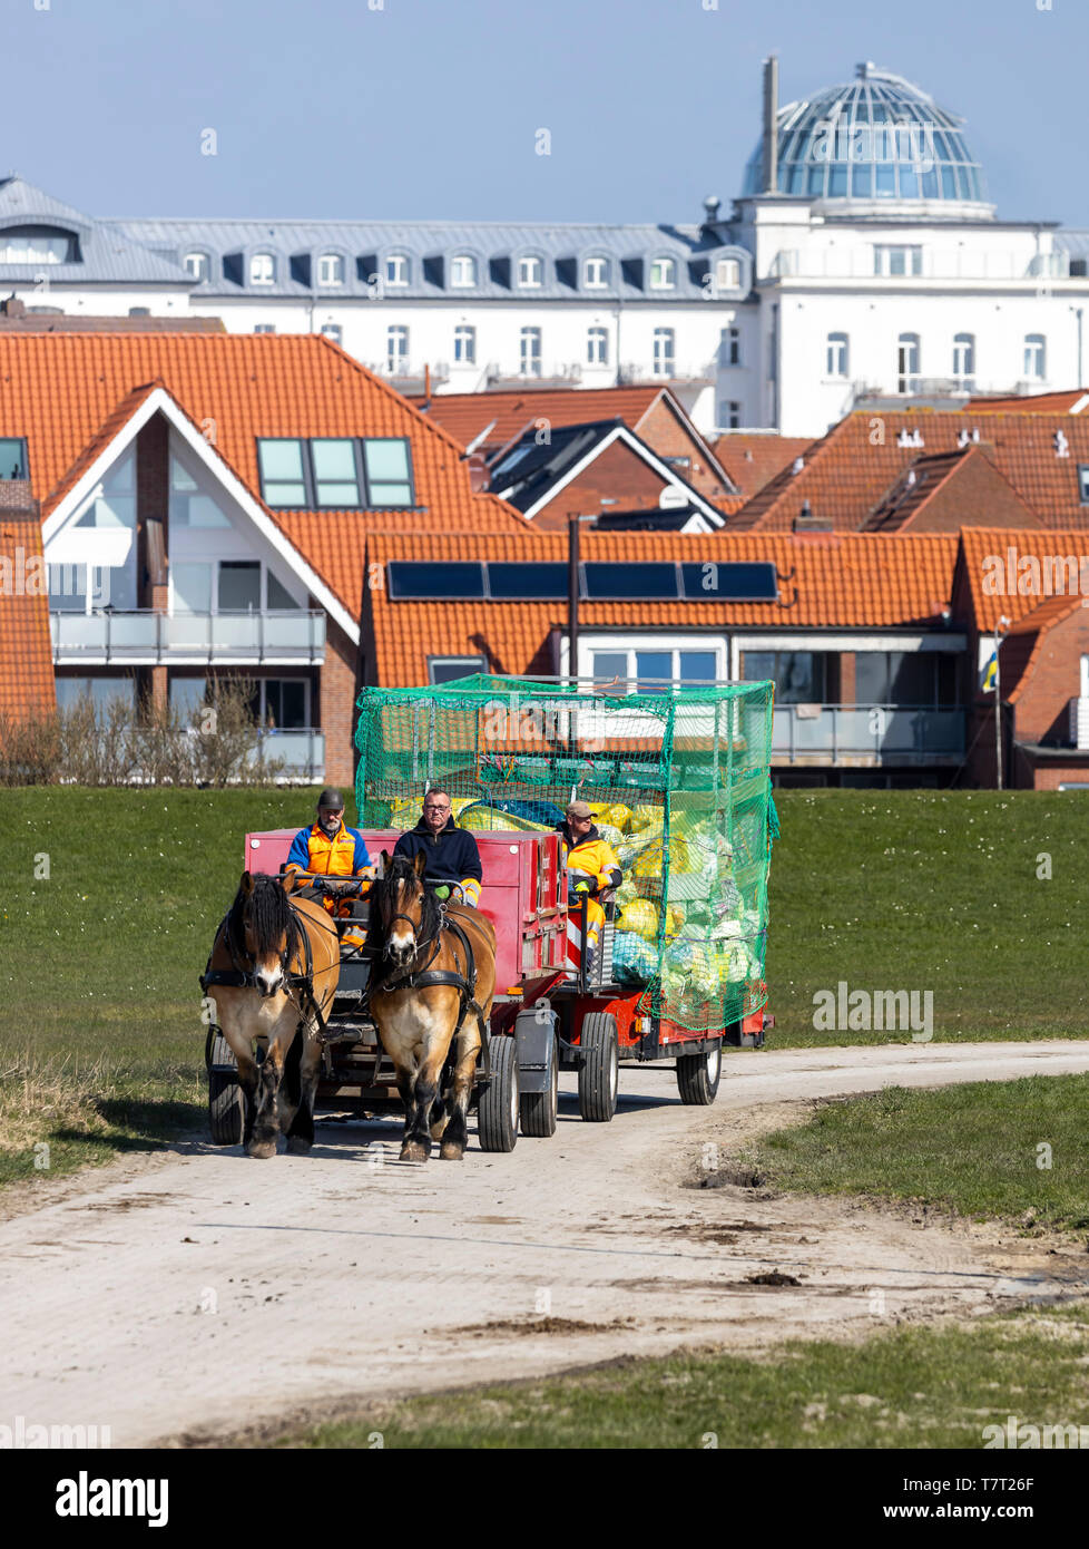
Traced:
<path fill-rule="evenodd" d="M 320 1019 L 340 976 L 336 928 L 320 905 L 289 898 L 278 877 L 241 874 L 201 979 L 215 1001 L 215 1021 L 238 1061 L 252 1157 L 314 1143 L 314 1095 L 322 1063 Z M 254 1041 L 265 1060 L 254 1060 Z"/>

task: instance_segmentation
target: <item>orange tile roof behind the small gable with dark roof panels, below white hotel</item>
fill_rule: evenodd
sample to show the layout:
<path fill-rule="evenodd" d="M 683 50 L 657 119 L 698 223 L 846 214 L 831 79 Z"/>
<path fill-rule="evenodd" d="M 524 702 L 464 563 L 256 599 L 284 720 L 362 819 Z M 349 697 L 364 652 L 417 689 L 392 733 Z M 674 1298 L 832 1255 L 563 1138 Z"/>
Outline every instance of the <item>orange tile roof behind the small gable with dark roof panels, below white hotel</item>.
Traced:
<path fill-rule="evenodd" d="M 661 392 L 651 386 L 433 393 L 427 418 L 449 431 L 459 446 L 469 446 L 495 420 L 484 446 L 497 451 L 534 420 L 560 426 L 619 418 L 634 431 Z M 410 401 L 419 407 L 424 400 L 413 397 Z"/>

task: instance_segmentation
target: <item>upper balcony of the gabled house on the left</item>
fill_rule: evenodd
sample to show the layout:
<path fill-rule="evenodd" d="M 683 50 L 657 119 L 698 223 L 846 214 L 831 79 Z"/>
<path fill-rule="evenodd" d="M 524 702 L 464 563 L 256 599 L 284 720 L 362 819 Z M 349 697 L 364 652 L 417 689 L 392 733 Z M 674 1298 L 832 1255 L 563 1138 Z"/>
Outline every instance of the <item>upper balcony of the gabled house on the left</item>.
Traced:
<path fill-rule="evenodd" d="M 325 660 L 325 613 L 50 613 L 54 666 Z"/>

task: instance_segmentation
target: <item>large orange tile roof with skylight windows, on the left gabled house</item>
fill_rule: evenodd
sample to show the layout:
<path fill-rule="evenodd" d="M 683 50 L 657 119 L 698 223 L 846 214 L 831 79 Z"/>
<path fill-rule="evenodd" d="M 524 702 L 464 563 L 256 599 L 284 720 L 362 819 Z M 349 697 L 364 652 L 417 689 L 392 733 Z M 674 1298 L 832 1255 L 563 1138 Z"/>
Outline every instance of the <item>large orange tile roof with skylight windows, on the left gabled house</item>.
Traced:
<path fill-rule="evenodd" d="M 0 435 L 25 435 L 29 474 L 48 516 L 71 488 L 74 465 L 161 383 L 260 500 L 258 437 L 407 435 L 416 497 L 405 531 L 510 531 L 523 519 L 495 496 L 476 496 L 447 432 L 356 359 L 319 335 L 0 335 Z M 271 511 L 306 561 L 359 613 L 360 556 L 388 511 Z"/>

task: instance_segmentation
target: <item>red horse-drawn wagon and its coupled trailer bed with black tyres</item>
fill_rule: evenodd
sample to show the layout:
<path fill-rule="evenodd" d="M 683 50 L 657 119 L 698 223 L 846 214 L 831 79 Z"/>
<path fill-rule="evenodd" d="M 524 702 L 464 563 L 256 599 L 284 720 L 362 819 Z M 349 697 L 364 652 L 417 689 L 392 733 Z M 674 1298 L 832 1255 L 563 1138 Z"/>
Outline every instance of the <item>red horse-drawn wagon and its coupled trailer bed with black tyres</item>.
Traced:
<path fill-rule="evenodd" d="M 391 850 L 399 830 L 364 829 L 371 858 Z M 246 835 L 244 866 L 280 872 L 294 829 Z M 551 1135 L 557 1121 L 560 1070 L 579 1073 L 579 1111 L 608 1121 L 617 1104 L 622 1063 L 676 1061 L 682 1103 L 707 1104 L 718 1092 L 722 1047 L 761 1047 L 770 1018 L 756 1010 L 742 1021 L 690 1032 L 654 1016 L 640 987 L 613 981 L 613 920 L 588 976 L 583 956 L 585 902 L 568 905 L 566 849 L 557 833 L 495 830 L 475 835 L 481 864 L 481 911 L 495 925 L 497 994 L 489 1039 L 490 1075 L 478 1066 L 473 1092 L 484 1151 L 510 1151 L 518 1137 Z M 360 914 L 365 903 L 356 906 Z M 367 1015 L 368 963 L 346 960 L 329 1018 L 329 1042 L 319 1106 L 359 1115 L 399 1111 L 393 1067 Z M 763 996 L 761 996 L 763 999 Z M 212 1134 L 220 1145 L 241 1140 L 241 1103 L 234 1056 L 221 1036 L 206 1050 Z"/>

